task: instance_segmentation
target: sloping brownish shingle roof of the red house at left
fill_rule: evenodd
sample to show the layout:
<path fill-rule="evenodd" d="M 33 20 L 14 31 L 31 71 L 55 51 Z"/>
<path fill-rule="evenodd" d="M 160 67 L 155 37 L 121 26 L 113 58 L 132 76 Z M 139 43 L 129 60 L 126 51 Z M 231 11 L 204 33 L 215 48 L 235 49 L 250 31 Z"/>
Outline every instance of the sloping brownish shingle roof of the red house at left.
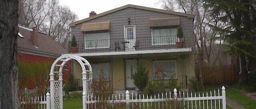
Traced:
<path fill-rule="evenodd" d="M 31 42 L 31 31 L 33 30 L 19 25 L 19 37 L 17 39 L 18 48 L 34 51 L 37 53 L 47 53 L 54 55 L 68 53 L 60 43 L 54 41 L 49 35 L 40 32 L 38 32 L 38 44 L 35 46 Z"/>

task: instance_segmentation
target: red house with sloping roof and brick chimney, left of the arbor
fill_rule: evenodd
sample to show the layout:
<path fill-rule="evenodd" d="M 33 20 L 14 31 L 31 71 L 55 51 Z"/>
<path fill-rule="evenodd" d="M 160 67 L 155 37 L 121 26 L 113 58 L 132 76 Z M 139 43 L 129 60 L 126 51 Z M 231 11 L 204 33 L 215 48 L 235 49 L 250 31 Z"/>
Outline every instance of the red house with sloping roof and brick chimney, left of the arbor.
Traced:
<path fill-rule="evenodd" d="M 61 44 L 54 41 L 52 37 L 47 34 L 37 31 L 35 28 L 30 29 L 19 25 L 18 36 L 17 50 L 19 62 L 52 63 L 57 57 L 61 56 L 61 54 L 67 53 L 67 50 L 63 48 Z M 70 63 L 67 63 L 64 69 L 63 79 L 65 81 L 70 74 Z M 33 79 L 32 81 L 28 81 L 27 84 L 29 84 L 29 82 L 33 82 Z M 29 88 L 33 87 L 33 85 L 29 86 Z"/>

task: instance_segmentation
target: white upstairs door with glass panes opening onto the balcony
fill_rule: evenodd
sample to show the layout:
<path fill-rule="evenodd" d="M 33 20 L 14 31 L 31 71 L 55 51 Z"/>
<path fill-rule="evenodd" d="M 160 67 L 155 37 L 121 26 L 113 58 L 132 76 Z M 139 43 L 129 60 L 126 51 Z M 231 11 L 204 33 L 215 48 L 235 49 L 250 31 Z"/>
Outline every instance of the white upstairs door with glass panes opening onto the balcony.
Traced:
<path fill-rule="evenodd" d="M 126 50 L 133 50 L 136 41 L 135 25 L 124 26 L 124 42 Z M 135 50 L 135 49 L 134 49 Z"/>

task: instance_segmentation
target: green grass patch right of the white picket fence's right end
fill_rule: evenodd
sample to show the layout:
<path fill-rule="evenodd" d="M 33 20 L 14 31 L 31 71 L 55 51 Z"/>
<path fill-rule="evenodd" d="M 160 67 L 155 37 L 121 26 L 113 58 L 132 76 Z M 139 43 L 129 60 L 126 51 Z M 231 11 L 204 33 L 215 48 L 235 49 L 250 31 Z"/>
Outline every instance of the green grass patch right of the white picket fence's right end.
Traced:
<path fill-rule="evenodd" d="M 234 88 L 227 88 L 226 95 L 229 99 L 239 103 L 247 109 L 254 109 L 256 107 L 255 100 L 246 97 L 246 95 L 236 91 Z"/>

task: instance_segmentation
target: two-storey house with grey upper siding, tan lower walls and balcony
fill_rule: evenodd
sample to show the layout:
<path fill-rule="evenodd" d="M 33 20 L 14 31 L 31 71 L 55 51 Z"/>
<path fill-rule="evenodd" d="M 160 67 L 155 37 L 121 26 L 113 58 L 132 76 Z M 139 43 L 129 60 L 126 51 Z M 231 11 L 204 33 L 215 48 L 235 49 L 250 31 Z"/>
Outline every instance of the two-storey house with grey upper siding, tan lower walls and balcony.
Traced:
<path fill-rule="evenodd" d="M 195 76 L 193 15 L 124 5 L 70 24 L 79 53 L 93 69 L 93 79 L 100 72 L 114 90 L 134 89 L 131 75 L 138 62 L 147 68 L 151 81 L 175 79 L 187 87 Z M 177 48 L 177 26 L 183 28 L 184 47 Z M 163 75 L 156 74 L 158 68 Z M 81 68 L 72 63 L 72 73 L 81 86 Z"/>

